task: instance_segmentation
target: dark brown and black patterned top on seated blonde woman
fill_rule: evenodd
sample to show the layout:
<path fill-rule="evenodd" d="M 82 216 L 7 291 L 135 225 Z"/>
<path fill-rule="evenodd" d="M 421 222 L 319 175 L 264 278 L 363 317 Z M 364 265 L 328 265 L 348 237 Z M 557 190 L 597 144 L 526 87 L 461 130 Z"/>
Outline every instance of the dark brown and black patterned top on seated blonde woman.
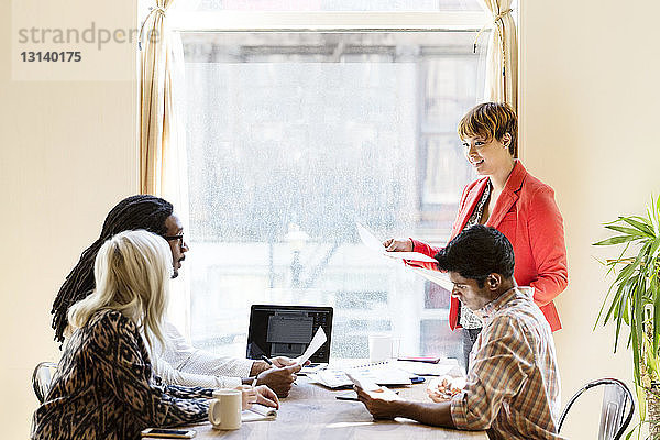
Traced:
<path fill-rule="evenodd" d="M 206 419 L 212 389 L 161 385 L 135 323 L 95 314 L 66 345 L 48 395 L 34 413 L 35 440 L 133 440 L 147 427 Z"/>

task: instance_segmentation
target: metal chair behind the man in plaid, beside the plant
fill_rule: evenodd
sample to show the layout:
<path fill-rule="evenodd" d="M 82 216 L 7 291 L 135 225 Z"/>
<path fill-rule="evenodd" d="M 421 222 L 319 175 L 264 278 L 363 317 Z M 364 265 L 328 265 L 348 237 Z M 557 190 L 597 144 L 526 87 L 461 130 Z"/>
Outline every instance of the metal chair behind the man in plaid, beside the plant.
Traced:
<path fill-rule="evenodd" d="M 575 400 L 578 400 L 584 392 L 596 386 L 605 387 L 603 391 L 598 440 L 619 440 L 622 438 L 628 428 L 628 425 L 630 425 L 630 420 L 632 420 L 635 400 L 632 399 L 632 393 L 630 393 L 630 389 L 628 389 L 626 384 L 616 378 L 592 381 L 575 393 L 559 418 L 558 432 L 561 431 L 561 426 Z"/>

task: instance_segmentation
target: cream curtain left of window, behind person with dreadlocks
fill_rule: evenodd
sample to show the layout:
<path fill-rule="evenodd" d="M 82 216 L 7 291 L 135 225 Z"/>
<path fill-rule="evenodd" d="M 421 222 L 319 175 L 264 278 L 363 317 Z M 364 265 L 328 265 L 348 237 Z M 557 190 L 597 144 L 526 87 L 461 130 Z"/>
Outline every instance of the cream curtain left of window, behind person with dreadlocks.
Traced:
<path fill-rule="evenodd" d="M 184 112 L 184 56 L 180 36 L 167 28 L 174 0 L 156 0 L 141 30 L 140 193 L 163 197 L 188 230 L 188 176 Z M 178 106 L 177 106 L 178 102 Z M 189 279 L 172 284 L 168 319 L 189 333 Z"/>

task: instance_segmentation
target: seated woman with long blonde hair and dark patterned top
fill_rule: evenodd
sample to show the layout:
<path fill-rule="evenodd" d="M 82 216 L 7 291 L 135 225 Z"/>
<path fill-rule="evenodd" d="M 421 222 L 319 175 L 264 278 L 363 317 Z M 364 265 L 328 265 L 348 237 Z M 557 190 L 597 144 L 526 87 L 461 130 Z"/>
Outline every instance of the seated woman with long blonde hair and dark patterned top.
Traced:
<path fill-rule="evenodd" d="M 172 272 L 169 245 L 151 232 L 121 232 L 100 248 L 97 287 L 69 309 L 72 336 L 32 439 L 138 439 L 147 427 L 206 419 L 213 389 L 164 386 L 150 361 L 164 344 Z M 266 386 L 244 391 L 243 402 L 278 406 Z"/>

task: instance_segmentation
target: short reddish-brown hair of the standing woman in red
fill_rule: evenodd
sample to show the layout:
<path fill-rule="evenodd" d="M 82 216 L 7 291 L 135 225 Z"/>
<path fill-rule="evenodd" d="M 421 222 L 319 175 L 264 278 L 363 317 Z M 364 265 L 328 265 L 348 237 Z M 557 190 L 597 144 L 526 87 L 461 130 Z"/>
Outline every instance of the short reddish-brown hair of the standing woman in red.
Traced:
<path fill-rule="evenodd" d="M 473 107 L 459 122 L 461 139 L 481 136 L 486 141 L 502 141 L 505 133 L 512 136 L 509 153 L 518 152 L 518 117 L 506 102 L 484 102 Z"/>

